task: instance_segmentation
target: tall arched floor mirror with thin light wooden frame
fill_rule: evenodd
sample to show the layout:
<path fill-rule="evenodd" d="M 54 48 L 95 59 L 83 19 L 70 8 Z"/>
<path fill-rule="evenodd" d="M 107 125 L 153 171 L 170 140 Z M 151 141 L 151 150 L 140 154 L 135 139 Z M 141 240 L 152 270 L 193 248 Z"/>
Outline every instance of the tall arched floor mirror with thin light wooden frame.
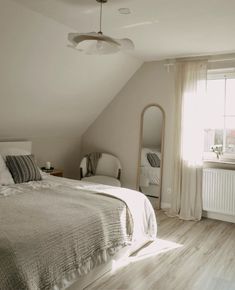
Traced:
<path fill-rule="evenodd" d="M 141 114 L 137 188 L 155 209 L 161 208 L 165 112 L 157 104 Z"/>

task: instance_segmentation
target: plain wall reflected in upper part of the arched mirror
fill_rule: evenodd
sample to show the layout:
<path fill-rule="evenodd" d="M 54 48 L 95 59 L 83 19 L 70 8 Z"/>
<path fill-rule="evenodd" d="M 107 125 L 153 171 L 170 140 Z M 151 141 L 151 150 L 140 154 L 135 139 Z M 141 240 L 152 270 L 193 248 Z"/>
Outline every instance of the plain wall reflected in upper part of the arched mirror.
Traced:
<path fill-rule="evenodd" d="M 147 108 L 143 118 L 143 146 L 161 148 L 162 111 L 155 106 Z"/>

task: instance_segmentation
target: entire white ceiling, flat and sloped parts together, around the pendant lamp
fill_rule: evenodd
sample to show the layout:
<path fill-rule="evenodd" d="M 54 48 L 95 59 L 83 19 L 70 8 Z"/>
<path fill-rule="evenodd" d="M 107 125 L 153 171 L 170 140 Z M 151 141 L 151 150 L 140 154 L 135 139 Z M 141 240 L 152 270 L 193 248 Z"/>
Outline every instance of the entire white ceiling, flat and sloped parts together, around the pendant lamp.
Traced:
<path fill-rule="evenodd" d="M 136 49 L 86 56 L 67 33 L 97 31 L 95 0 L 1 0 L 0 138 L 81 136 L 143 61 L 234 52 L 234 11 L 231 0 L 109 0 L 104 32 Z"/>

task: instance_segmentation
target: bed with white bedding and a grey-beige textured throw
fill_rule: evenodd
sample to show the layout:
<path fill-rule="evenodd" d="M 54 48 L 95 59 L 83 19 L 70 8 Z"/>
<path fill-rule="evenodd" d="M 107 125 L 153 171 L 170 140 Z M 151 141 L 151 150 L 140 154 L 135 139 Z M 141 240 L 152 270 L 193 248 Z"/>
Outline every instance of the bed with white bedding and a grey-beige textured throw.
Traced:
<path fill-rule="evenodd" d="M 150 202 L 133 190 L 47 174 L 0 186 L 0 289 L 83 289 L 156 232 Z"/>

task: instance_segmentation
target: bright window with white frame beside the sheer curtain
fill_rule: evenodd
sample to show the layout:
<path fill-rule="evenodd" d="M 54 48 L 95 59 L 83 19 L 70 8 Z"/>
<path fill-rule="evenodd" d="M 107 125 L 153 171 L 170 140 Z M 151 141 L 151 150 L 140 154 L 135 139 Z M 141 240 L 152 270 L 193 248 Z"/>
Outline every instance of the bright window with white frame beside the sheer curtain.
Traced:
<path fill-rule="evenodd" d="M 235 161 L 235 73 L 209 71 L 207 118 L 204 125 L 204 158 Z M 213 153 L 213 150 L 215 153 Z M 222 153 L 222 154 L 221 154 Z"/>

